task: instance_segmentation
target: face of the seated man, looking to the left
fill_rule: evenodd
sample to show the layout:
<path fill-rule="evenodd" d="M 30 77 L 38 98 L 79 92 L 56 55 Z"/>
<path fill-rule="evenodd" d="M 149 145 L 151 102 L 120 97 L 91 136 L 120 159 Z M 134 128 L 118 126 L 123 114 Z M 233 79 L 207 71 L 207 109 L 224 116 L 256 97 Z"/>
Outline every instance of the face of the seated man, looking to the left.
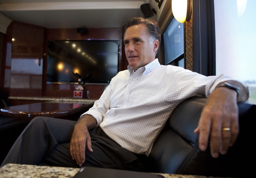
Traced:
<path fill-rule="evenodd" d="M 126 58 L 135 71 L 152 62 L 159 47 L 158 40 L 150 41 L 146 30 L 144 24 L 130 26 L 123 38 Z"/>

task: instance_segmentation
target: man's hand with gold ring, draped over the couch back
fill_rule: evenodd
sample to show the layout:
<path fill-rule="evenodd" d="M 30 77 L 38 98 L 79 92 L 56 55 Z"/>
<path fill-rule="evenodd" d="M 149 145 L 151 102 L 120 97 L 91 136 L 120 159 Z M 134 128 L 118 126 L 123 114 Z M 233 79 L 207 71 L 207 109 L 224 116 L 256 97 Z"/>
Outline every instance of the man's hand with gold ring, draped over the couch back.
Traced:
<path fill-rule="evenodd" d="M 207 99 L 194 133 L 199 134 L 199 148 L 203 151 L 210 139 L 212 157 L 227 153 L 239 133 L 237 92 L 216 88 Z"/>

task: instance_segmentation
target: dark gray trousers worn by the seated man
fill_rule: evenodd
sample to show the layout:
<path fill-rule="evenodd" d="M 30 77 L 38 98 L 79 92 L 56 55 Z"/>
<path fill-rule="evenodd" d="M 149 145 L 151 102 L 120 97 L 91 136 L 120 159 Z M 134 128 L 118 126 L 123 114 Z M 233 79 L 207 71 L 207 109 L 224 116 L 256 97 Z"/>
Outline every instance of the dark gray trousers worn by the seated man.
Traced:
<path fill-rule="evenodd" d="M 15 141 L 2 166 L 7 163 L 79 167 L 69 153 L 76 121 L 36 117 Z M 143 170 L 145 155 L 137 155 L 110 139 L 100 127 L 90 131 L 93 152 L 85 151 L 83 166 Z"/>

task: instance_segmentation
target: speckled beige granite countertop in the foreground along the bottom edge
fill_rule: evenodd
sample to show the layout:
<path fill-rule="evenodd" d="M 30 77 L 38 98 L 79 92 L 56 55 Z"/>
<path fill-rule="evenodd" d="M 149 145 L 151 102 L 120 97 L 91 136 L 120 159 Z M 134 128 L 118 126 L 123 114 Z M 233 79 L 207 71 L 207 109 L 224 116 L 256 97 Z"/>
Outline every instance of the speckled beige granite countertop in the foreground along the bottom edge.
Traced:
<path fill-rule="evenodd" d="M 78 171 L 78 168 L 6 164 L 0 168 L 0 178 L 73 178 Z M 206 176 L 177 174 L 161 175 L 163 175 L 165 178 L 210 178 Z"/>

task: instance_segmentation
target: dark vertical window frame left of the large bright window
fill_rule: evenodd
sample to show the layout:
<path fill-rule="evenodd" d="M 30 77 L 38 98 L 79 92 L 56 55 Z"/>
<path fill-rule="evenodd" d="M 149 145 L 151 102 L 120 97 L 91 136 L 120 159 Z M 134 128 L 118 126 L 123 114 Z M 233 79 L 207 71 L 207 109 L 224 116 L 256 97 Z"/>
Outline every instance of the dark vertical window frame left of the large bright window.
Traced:
<path fill-rule="evenodd" d="M 193 0 L 193 72 L 216 75 L 213 0 Z"/>

